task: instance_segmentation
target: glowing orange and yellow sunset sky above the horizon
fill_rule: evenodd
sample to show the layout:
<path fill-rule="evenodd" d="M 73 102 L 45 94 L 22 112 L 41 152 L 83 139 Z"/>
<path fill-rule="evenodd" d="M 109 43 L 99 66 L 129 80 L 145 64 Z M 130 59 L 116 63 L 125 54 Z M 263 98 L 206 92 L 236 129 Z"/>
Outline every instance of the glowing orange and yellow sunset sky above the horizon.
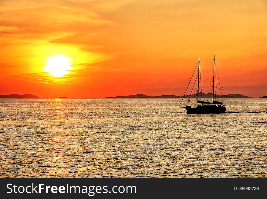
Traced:
<path fill-rule="evenodd" d="M 265 0 L 2 0 L 0 94 L 183 95 L 215 55 L 226 94 L 267 95 Z M 63 77 L 47 59 L 70 58 Z"/>

